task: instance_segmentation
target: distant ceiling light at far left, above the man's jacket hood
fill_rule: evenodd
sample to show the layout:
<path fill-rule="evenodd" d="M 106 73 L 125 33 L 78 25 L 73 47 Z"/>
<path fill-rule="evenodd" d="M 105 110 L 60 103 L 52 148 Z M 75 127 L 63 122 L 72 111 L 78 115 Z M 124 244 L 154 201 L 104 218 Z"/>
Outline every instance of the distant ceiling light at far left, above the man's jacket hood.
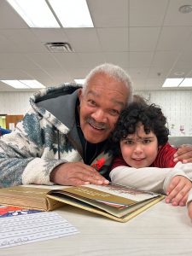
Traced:
<path fill-rule="evenodd" d="M 37 80 L 1 80 L 5 84 L 9 84 L 15 89 L 40 89 L 44 88 L 44 84 L 40 84 Z"/>

